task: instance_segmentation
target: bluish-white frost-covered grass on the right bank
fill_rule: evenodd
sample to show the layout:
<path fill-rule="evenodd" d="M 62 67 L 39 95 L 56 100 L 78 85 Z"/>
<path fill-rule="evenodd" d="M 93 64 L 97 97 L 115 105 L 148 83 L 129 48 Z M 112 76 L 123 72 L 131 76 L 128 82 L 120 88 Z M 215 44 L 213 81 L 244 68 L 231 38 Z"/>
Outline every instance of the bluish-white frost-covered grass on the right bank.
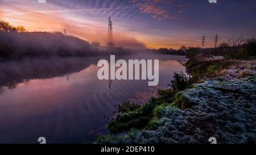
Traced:
<path fill-rule="evenodd" d="M 255 82 L 247 78 L 208 79 L 182 91 L 191 108 L 174 106 L 157 109 L 154 130 L 131 130 L 119 135 L 101 136 L 98 143 L 255 143 Z M 255 77 L 254 77 L 255 78 Z"/>

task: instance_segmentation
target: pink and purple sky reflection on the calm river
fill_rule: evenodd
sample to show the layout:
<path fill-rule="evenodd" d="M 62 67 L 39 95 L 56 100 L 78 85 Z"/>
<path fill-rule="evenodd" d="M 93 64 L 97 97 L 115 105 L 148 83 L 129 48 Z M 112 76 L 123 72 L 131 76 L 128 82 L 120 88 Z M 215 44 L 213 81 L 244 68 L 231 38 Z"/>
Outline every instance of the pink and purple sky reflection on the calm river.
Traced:
<path fill-rule="evenodd" d="M 148 81 L 114 80 L 109 89 L 108 80 L 98 80 L 99 68 L 94 62 L 75 73 L 31 78 L 16 83 L 13 89 L 2 86 L 0 143 L 37 143 L 40 136 L 48 143 L 94 140 L 108 132 L 104 116 L 112 114 L 116 104 L 126 99 L 143 103 L 153 91 L 166 87 L 174 72 L 185 72 L 182 57 L 164 57 L 159 61 L 156 87 L 147 86 Z"/>

